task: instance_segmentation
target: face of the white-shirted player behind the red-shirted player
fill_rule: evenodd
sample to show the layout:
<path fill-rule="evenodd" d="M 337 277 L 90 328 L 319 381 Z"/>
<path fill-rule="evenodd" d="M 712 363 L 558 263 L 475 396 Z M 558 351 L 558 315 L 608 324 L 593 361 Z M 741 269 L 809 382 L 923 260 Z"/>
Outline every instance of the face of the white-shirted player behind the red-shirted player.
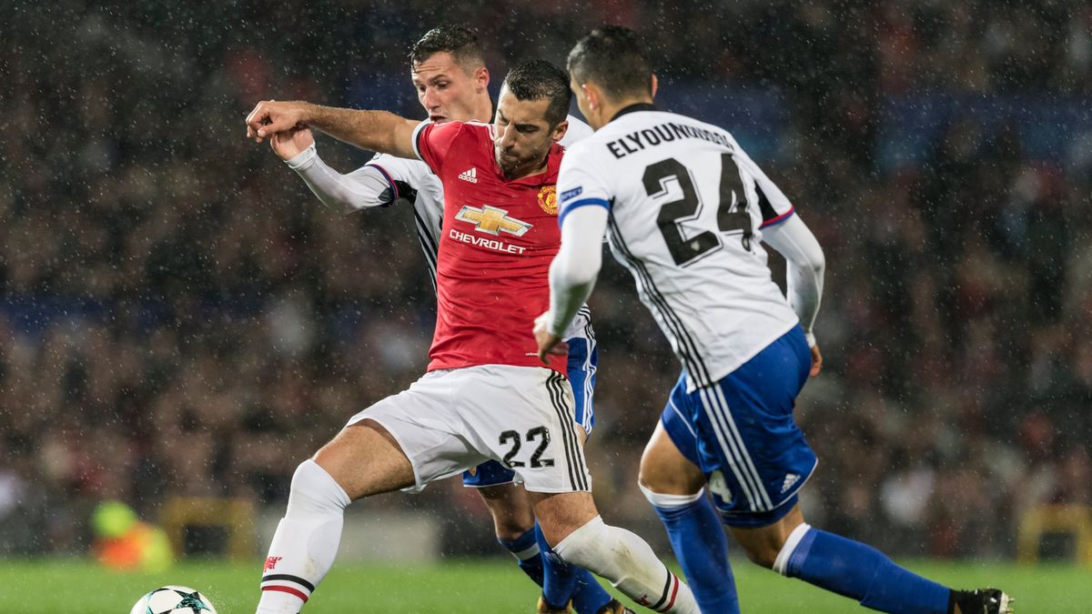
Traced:
<path fill-rule="evenodd" d="M 413 84 L 428 118 L 437 122 L 485 120 L 474 117 L 479 71 L 485 67 L 467 74 L 447 51 L 437 51 L 414 64 Z"/>

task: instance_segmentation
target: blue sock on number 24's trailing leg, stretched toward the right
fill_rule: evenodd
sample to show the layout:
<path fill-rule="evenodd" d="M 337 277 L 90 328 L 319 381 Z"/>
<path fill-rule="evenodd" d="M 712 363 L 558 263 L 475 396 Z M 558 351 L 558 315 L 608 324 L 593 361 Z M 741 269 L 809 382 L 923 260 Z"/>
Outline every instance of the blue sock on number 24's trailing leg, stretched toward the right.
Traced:
<path fill-rule="evenodd" d="M 795 547 L 793 541 L 798 541 Z M 894 564 L 880 551 L 800 524 L 774 569 L 892 614 L 947 614 L 951 590 Z M 779 566 L 781 567 L 779 569 Z"/>

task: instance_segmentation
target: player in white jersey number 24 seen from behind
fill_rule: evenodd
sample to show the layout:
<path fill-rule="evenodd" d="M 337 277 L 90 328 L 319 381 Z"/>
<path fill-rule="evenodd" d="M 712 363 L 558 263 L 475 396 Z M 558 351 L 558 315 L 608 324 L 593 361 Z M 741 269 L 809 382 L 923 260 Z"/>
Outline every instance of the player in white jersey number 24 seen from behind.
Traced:
<path fill-rule="evenodd" d="M 1009 612 L 999 590 L 951 590 L 805 522 L 797 492 L 817 459 L 793 405 L 821 367 L 812 324 L 822 250 L 728 132 L 655 109 L 656 79 L 633 32 L 593 31 L 573 47 L 568 68 L 596 133 L 561 165 L 561 249 L 550 267 L 550 309 L 536 322 L 539 355 L 549 355 L 591 293 L 608 233 L 682 363 L 639 481 L 702 611 L 739 610 L 720 512 L 755 563 L 864 606 Z M 788 262 L 787 302 L 762 243 Z"/>

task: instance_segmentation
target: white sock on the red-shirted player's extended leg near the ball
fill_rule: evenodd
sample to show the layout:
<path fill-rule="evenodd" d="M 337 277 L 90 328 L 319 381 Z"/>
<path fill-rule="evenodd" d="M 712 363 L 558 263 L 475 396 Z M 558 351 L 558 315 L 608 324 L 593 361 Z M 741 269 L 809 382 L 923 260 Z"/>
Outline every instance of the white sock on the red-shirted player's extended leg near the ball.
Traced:
<path fill-rule="evenodd" d="M 299 612 L 333 565 L 349 503 L 345 491 L 314 461 L 296 468 L 288 509 L 265 559 L 258 614 Z"/>

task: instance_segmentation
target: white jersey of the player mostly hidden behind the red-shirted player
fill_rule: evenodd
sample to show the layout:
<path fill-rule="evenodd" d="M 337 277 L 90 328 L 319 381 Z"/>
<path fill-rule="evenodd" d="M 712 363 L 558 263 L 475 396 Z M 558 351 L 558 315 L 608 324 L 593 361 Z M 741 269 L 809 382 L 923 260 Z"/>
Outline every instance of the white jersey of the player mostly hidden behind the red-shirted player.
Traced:
<path fill-rule="evenodd" d="M 569 129 L 561 139 L 561 146 L 569 147 L 571 144 L 592 135 L 592 128 L 582 120 L 569 116 Z M 389 154 L 377 154 L 376 157 L 360 169 L 346 175 L 367 172 L 368 167 L 378 169 L 389 184 L 391 196 L 390 202 L 397 202 L 400 199 L 407 200 L 413 205 L 414 222 L 417 228 L 417 240 L 420 243 L 422 251 L 425 253 L 425 261 L 428 264 L 428 274 L 436 287 L 436 257 L 439 246 L 440 226 L 443 222 L 443 185 L 439 177 L 432 173 L 427 164 L 419 160 L 408 160 L 395 157 Z M 400 186 L 401 184 L 401 186 Z M 405 188 L 415 193 L 402 193 Z M 403 198 L 404 197 L 404 198 Z M 379 194 L 376 194 L 379 198 Z M 590 311 L 585 307 L 580 310 L 572 324 L 566 330 L 565 339 L 586 338 L 590 330 Z"/>

